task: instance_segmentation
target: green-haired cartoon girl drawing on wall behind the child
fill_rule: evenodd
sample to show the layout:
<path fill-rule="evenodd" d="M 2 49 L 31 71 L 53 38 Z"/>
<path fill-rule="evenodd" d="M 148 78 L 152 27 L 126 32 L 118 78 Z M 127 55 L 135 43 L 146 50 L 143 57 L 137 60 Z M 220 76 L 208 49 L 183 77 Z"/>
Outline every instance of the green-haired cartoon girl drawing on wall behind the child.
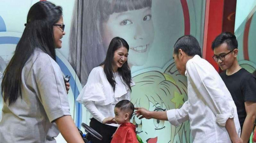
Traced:
<path fill-rule="evenodd" d="M 149 71 L 134 76 L 136 85 L 132 88 L 131 101 L 135 107 L 151 111 L 165 111 L 180 108 L 187 95 L 177 86 L 172 76 L 158 71 Z M 147 143 L 190 143 L 189 122 L 174 127 L 168 121 L 139 119 L 132 117 L 136 132 Z"/>

